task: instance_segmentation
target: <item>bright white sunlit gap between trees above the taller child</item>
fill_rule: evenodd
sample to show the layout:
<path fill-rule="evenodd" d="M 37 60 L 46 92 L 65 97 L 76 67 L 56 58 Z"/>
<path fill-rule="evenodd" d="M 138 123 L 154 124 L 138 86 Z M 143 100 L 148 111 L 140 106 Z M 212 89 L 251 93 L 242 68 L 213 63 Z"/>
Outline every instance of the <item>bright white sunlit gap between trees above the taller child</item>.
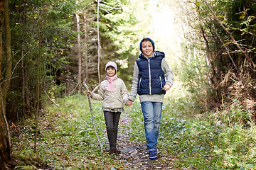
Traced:
<path fill-rule="evenodd" d="M 137 0 L 133 0 L 136 2 Z M 175 6 L 173 5 L 175 4 Z M 164 51 L 168 58 L 181 55 L 181 42 L 183 40 L 183 20 L 182 6 L 184 1 L 160 3 L 156 0 L 149 1 L 146 9 L 141 13 L 145 2 L 140 2 L 137 7 L 137 18 L 144 21 L 144 26 L 150 31 L 142 36 L 152 38 L 156 45 L 156 50 Z"/>

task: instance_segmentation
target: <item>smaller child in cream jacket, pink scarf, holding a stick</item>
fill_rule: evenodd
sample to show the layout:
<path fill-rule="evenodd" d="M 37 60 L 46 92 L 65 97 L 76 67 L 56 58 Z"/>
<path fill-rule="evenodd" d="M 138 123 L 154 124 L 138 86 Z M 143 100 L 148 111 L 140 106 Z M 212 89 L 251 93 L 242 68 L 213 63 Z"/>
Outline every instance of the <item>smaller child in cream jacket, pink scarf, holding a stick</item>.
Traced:
<path fill-rule="evenodd" d="M 117 149 L 117 131 L 119 118 L 124 111 L 124 105 L 127 101 L 128 92 L 122 79 L 117 78 L 117 64 L 108 62 L 105 67 L 107 76 L 105 80 L 100 83 L 99 94 L 87 91 L 92 99 L 103 101 L 102 111 L 105 116 L 105 123 L 107 127 L 107 137 L 110 142 L 110 154 L 119 154 Z"/>

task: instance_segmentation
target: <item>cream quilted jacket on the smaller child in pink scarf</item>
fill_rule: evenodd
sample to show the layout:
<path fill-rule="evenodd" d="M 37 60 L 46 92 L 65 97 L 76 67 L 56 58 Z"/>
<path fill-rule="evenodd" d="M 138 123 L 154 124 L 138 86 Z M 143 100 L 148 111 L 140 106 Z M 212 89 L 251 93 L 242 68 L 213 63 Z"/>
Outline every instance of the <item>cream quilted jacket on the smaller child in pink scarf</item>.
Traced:
<path fill-rule="evenodd" d="M 103 101 L 102 108 L 124 108 L 128 98 L 128 91 L 122 79 L 114 79 L 114 91 L 107 91 L 107 79 L 100 83 L 99 94 L 92 93 L 91 98 Z"/>

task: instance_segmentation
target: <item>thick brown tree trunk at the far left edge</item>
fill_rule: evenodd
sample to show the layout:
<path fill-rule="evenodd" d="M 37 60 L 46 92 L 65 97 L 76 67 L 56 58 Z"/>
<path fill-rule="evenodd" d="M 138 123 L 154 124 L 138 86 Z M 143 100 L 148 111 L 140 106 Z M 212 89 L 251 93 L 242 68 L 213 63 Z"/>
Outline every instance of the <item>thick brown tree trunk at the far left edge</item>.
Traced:
<path fill-rule="evenodd" d="M 11 139 L 9 135 L 9 126 L 6 120 L 6 98 L 9 91 L 9 84 L 11 80 L 11 33 L 9 25 L 9 1 L 0 1 L 0 68 L 2 65 L 3 54 L 3 41 L 2 41 L 2 29 L 3 21 L 5 28 L 5 42 L 6 42 L 6 75 L 4 81 L 0 86 L 0 169 L 11 168 Z M 3 11 L 4 9 L 4 11 Z M 1 69 L 0 69 L 1 75 Z"/>

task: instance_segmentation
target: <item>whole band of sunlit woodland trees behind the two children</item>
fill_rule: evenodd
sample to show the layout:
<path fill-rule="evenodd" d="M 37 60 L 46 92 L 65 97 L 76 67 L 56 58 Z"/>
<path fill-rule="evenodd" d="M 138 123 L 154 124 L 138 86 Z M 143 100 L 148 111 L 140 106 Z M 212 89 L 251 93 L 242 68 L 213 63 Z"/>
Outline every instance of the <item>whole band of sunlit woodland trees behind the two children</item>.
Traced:
<path fill-rule="evenodd" d="M 129 89 L 143 37 L 166 52 L 174 86 L 182 86 L 198 112 L 230 114 L 230 108 L 239 108 L 231 118 L 255 120 L 256 1 L 1 0 L 0 5 L 0 169 L 12 164 L 9 125 L 37 118 L 44 101 L 84 93 L 83 81 L 93 89 L 110 60 Z M 172 18 L 164 14 L 166 25 L 152 27 L 152 18 L 166 8 Z M 166 37 L 156 34 L 159 27 L 166 27 Z"/>

